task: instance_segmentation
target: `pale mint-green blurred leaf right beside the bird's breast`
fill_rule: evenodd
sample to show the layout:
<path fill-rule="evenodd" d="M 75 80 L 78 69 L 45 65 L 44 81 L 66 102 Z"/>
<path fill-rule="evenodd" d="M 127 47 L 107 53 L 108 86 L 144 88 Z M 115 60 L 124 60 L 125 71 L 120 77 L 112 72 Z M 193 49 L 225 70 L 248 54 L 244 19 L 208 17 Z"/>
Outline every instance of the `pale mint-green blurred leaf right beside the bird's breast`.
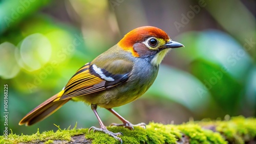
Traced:
<path fill-rule="evenodd" d="M 206 91 L 202 94 L 201 89 L 204 89 L 204 85 L 194 76 L 161 65 L 156 81 L 146 93 L 157 99 L 180 103 L 195 113 L 202 113 L 209 103 L 210 93 Z"/>

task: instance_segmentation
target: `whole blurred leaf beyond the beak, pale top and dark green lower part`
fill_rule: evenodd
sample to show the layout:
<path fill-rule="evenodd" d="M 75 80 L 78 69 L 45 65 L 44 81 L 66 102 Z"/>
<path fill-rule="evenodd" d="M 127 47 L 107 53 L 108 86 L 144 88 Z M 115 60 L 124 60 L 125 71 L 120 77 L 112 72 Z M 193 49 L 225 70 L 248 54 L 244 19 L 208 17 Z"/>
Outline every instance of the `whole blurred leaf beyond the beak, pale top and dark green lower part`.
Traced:
<path fill-rule="evenodd" d="M 179 55 L 210 91 L 224 113 L 235 114 L 244 95 L 252 60 L 247 51 L 229 35 L 213 30 L 179 36 L 186 45 Z"/>

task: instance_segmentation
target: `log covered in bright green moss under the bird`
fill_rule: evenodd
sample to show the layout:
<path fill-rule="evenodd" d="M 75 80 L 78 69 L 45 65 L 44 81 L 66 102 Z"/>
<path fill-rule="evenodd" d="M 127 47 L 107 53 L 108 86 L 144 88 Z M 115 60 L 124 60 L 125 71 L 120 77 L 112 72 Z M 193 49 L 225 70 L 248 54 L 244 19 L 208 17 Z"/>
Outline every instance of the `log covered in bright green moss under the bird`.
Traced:
<path fill-rule="evenodd" d="M 135 130 L 109 127 L 110 131 L 122 132 L 123 143 L 255 143 L 256 118 L 232 117 L 225 121 L 188 122 L 181 125 L 150 123 L 146 129 Z M 120 143 L 102 132 L 88 129 L 47 131 L 33 135 L 9 134 L 1 136 L 0 143 Z"/>

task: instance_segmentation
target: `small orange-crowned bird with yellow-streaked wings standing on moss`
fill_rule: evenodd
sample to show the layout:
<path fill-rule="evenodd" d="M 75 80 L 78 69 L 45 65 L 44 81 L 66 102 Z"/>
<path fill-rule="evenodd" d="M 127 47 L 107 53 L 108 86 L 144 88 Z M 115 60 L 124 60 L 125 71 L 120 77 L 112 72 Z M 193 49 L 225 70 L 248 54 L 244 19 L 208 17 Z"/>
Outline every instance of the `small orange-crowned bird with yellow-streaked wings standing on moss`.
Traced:
<path fill-rule="evenodd" d="M 122 124 L 113 123 L 114 126 L 132 130 L 134 126 L 145 128 L 144 123 L 133 125 L 113 108 L 133 102 L 145 93 L 155 81 L 165 55 L 171 49 L 182 46 L 159 28 L 136 28 L 109 50 L 78 69 L 59 93 L 30 111 L 19 125 L 30 126 L 42 121 L 70 100 L 82 101 L 91 105 L 100 124 L 100 128 L 91 127 L 89 132 L 92 129 L 101 131 L 122 143 L 118 136 L 123 134 L 106 129 L 96 111 L 97 106 L 109 110 L 121 120 Z"/>

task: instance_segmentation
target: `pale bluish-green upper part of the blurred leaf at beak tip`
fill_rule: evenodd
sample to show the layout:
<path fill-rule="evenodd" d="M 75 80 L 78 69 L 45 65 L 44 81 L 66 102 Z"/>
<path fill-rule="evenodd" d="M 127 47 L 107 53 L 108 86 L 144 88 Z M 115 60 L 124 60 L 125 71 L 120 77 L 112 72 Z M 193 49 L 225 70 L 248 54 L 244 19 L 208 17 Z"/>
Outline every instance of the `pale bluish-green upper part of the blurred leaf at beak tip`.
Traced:
<path fill-rule="evenodd" d="M 189 32 L 178 37 L 186 45 L 178 51 L 187 64 L 195 59 L 206 60 L 228 69 L 238 81 L 244 81 L 252 60 L 243 47 L 229 35 L 220 31 Z"/>

